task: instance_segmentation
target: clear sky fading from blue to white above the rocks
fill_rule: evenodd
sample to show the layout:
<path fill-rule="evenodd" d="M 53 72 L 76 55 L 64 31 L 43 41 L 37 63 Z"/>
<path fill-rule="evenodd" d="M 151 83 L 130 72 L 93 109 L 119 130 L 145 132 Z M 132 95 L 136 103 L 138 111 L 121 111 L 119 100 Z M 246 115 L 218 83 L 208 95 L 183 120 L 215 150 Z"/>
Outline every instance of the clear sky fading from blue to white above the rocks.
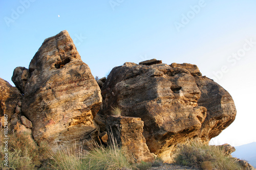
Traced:
<path fill-rule="evenodd" d="M 48 37 L 67 30 L 93 76 L 156 58 L 198 65 L 232 96 L 236 120 L 212 141 L 256 141 L 256 1 L 0 0 L 0 77 L 28 68 Z"/>

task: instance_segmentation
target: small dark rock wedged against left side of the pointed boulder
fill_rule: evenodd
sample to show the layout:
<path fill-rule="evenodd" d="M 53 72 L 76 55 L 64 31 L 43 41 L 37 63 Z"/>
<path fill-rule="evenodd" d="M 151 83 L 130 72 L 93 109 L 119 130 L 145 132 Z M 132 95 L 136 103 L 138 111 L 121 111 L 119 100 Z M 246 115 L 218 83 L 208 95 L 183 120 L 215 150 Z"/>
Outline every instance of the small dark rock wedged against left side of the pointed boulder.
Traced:
<path fill-rule="evenodd" d="M 13 71 L 12 82 L 24 94 L 25 85 L 30 77 L 29 69 L 16 67 Z"/>

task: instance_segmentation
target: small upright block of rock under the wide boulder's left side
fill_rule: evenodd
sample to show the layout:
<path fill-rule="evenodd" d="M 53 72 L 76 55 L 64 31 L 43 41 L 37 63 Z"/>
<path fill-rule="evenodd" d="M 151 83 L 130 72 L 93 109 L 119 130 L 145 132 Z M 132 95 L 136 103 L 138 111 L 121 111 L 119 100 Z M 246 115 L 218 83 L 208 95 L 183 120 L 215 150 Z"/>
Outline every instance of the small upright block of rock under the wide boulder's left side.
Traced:
<path fill-rule="evenodd" d="M 146 145 L 142 135 L 143 121 L 138 117 L 108 116 L 107 125 L 111 136 L 121 145 L 122 150 L 132 162 L 152 162 L 153 154 Z M 110 141 L 112 142 L 112 141 Z"/>

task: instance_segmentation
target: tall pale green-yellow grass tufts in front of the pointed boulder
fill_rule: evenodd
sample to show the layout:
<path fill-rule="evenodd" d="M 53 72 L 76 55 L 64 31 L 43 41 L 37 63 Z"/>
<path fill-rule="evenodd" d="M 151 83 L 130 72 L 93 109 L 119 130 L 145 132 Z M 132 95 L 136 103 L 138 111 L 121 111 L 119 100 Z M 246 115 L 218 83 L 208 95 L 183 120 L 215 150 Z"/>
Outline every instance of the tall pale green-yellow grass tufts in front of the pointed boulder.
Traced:
<path fill-rule="evenodd" d="M 129 159 L 118 148 L 113 136 L 111 138 L 113 144 L 109 147 L 93 142 L 90 151 L 84 151 L 82 145 L 77 150 L 62 149 L 52 155 L 52 160 L 54 160 L 52 168 L 116 170 L 125 167 L 131 169 L 132 165 L 129 163 Z"/>

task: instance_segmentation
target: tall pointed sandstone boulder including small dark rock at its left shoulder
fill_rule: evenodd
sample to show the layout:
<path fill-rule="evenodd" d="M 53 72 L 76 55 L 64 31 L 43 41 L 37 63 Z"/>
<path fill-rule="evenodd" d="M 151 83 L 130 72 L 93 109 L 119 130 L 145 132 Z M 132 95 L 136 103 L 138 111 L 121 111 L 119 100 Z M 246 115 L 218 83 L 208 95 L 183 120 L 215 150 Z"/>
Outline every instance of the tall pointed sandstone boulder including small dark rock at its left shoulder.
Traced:
<path fill-rule="evenodd" d="M 31 60 L 29 74 L 17 67 L 13 79 L 24 92 L 22 111 L 33 124 L 36 141 L 46 140 L 56 150 L 98 135 L 93 118 L 101 104 L 100 89 L 67 31 L 47 38 Z"/>

